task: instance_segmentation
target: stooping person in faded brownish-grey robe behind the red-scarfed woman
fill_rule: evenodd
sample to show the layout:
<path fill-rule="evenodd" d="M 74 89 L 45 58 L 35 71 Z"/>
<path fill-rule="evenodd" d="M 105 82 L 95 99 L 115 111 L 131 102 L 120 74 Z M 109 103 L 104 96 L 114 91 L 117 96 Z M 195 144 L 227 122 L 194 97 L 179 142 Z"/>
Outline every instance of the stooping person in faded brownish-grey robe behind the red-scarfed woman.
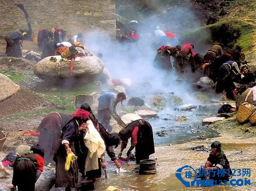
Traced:
<path fill-rule="evenodd" d="M 40 131 L 38 144 L 42 146 L 45 151 L 45 163 L 52 163 L 55 148 L 58 140 L 61 137 L 61 129 L 66 123 L 71 120 L 72 115 L 52 112 L 46 115 L 38 126 Z"/>

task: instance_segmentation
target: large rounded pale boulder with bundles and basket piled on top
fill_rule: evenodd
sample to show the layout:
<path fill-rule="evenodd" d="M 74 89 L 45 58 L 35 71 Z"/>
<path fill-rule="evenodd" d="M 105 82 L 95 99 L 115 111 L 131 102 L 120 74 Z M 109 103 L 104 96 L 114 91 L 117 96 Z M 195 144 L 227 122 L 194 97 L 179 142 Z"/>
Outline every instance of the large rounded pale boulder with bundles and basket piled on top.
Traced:
<path fill-rule="evenodd" d="M 34 74 L 42 79 L 81 77 L 90 81 L 104 69 L 104 64 L 98 57 L 76 57 L 70 75 L 71 60 L 61 60 L 61 56 L 53 57 L 54 59 L 45 57 L 39 61 L 34 66 Z"/>

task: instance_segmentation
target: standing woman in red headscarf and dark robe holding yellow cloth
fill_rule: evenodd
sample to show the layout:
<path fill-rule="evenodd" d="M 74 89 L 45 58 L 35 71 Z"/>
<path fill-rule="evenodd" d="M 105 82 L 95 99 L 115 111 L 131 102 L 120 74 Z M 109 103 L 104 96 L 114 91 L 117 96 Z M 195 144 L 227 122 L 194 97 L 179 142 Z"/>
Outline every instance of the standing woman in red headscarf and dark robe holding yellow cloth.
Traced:
<path fill-rule="evenodd" d="M 74 161 L 70 164 L 68 171 L 65 170 L 66 158 L 69 153 L 81 152 L 75 149 L 75 145 L 84 145 L 83 137 L 87 129 L 89 112 L 81 108 L 73 115 L 73 118 L 62 128 L 61 139 L 58 142 L 57 151 L 54 154 L 56 163 L 56 183 L 55 187 L 66 187 L 66 191 L 71 191 L 71 187 L 76 187 L 78 183 L 78 166 Z M 77 147 L 76 147 L 77 148 Z"/>

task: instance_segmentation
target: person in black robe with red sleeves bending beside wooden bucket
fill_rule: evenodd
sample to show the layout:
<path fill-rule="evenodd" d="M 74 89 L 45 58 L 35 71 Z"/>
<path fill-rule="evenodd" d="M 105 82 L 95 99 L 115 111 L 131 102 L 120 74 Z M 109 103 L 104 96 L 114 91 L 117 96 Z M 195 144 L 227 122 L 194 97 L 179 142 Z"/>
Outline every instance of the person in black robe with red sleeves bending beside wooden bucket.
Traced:
<path fill-rule="evenodd" d="M 129 138 L 131 138 L 131 146 L 128 149 L 127 156 L 130 155 L 135 147 L 137 164 L 140 163 L 140 160 L 149 159 L 149 155 L 155 153 L 153 131 L 148 121 L 142 119 L 133 121 L 122 129 L 119 135 L 121 139 L 119 158 L 122 156 L 122 152 L 126 148 Z"/>

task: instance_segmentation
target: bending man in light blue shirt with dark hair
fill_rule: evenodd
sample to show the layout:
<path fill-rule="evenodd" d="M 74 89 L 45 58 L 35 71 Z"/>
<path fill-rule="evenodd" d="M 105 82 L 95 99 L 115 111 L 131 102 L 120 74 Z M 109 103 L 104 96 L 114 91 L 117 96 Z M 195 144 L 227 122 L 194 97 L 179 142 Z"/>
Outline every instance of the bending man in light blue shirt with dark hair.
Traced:
<path fill-rule="evenodd" d="M 123 92 L 117 95 L 113 92 L 106 92 L 98 100 L 98 120 L 102 125 L 109 124 L 110 119 L 108 115 L 117 115 L 116 106 L 119 102 L 126 100 L 126 95 Z"/>

